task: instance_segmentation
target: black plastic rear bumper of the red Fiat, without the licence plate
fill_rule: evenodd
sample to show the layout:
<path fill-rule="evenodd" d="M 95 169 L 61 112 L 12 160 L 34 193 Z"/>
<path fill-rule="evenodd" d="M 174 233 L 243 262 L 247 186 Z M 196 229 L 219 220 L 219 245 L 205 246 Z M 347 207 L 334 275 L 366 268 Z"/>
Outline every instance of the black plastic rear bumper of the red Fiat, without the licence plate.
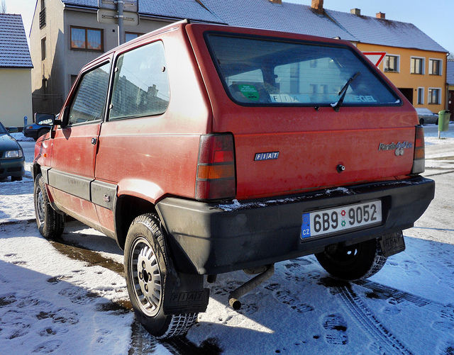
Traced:
<path fill-rule="evenodd" d="M 156 207 L 177 269 L 221 274 L 314 254 L 329 244 L 355 244 L 413 227 L 434 193 L 435 182 L 417 176 L 225 204 L 165 198 Z M 303 213 L 377 199 L 382 201 L 380 225 L 301 238 Z"/>

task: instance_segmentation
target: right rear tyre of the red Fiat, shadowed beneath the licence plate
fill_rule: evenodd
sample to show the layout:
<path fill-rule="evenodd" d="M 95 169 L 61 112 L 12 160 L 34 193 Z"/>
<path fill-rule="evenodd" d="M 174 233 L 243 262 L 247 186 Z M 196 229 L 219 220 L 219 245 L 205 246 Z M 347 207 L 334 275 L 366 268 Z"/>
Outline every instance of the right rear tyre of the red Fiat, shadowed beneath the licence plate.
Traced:
<path fill-rule="evenodd" d="M 324 252 L 315 256 L 328 273 L 347 281 L 375 275 L 387 261 L 380 243 L 375 239 L 348 247 L 343 244 L 329 245 Z"/>

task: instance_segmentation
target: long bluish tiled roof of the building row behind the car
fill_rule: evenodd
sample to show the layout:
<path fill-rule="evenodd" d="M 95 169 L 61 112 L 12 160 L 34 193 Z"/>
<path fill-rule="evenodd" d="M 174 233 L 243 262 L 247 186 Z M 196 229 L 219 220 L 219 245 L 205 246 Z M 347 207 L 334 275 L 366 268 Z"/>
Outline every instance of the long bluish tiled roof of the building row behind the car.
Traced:
<path fill-rule="evenodd" d="M 62 0 L 67 5 L 98 7 L 98 0 Z M 201 4 L 204 6 L 201 6 Z M 352 42 L 448 52 L 411 23 L 356 16 L 311 6 L 268 0 L 140 0 L 139 13 L 167 18 L 226 23 L 231 26 L 281 30 Z"/>

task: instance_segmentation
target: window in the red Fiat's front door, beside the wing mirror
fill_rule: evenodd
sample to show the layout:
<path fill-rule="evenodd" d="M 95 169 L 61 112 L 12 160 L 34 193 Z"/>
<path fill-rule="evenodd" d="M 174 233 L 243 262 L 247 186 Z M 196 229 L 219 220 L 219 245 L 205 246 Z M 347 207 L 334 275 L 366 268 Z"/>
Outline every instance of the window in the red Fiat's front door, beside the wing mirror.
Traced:
<path fill-rule="evenodd" d="M 84 74 L 70 108 L 70 125 L 101 120 L 106 107 L 109 69 L 107 63 Z"/>

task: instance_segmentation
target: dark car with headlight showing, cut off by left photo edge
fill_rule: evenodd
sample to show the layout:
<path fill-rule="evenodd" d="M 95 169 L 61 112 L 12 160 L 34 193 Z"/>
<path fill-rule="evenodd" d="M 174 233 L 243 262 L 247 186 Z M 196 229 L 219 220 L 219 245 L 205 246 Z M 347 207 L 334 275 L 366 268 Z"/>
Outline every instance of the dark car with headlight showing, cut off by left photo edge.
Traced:
<path fill-rule="evenodd" d="M 26 174 L 26 158 L 21 145 L 0 123 L 0 180 L 11 176 L 11 181 L 22 180 Z"/>

